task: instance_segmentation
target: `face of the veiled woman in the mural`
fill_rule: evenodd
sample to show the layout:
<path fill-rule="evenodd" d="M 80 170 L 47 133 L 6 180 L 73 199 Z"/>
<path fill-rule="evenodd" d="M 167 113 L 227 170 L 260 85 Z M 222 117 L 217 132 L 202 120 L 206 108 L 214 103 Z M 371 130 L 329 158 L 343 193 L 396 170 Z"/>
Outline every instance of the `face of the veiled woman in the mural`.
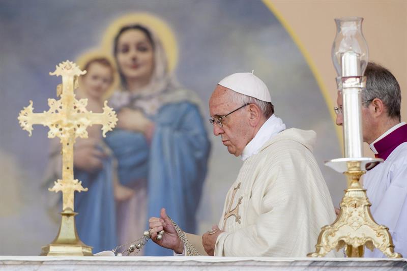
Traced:
<path fill-rule="evenodd" d="M 116 57 L 126 80 L 150 80 L 154 69 L 154 51 L 142 31 L 130 29 L 124 32 L 118 40 Z"/>

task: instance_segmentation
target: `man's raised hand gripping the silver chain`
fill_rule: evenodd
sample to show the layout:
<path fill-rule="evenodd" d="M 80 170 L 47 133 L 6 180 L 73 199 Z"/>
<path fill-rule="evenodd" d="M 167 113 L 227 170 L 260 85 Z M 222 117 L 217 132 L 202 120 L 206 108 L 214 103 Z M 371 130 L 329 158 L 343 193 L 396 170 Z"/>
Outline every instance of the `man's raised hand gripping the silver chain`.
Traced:
<path fill-rule="evenodd" d="M 178 237 L 177 231 L 165 213 L 164 208 L 161 209 L 160 216 L 160 218 L 152 217 L 149 219 L 151 239 L 157 245 L 160 245 L 163 248 L 172 249 L 176 253 L 181 254 L 184 251 L 184 244 L 180 237 Z M 161 230 L 164 230 L 165 233 L 162 235 L 161 240 L 157 240 L 158 232 Z"/>

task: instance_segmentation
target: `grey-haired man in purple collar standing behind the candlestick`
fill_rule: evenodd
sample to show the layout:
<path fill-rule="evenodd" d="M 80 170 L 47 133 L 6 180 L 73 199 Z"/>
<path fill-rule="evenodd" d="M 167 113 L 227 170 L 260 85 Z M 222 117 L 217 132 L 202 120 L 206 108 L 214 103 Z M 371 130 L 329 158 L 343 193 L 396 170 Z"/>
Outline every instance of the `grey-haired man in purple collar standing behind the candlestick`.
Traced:
<path fill-rule="evenodd" d="M 375 157 L 385 160 L 369 170 L 363 187 L 372 203 L 374 220 L 389 228 L 394 251 L 407 257 L 407 125 L 401 122 L 401 92 L 386 68 L 368 63 L 366 89 L 362 90 L 363 141 Z M 342 125 L 342 97 L 338 93 L 336 124 Z M 374 249 L 365 257 L 385 257 Z"/>

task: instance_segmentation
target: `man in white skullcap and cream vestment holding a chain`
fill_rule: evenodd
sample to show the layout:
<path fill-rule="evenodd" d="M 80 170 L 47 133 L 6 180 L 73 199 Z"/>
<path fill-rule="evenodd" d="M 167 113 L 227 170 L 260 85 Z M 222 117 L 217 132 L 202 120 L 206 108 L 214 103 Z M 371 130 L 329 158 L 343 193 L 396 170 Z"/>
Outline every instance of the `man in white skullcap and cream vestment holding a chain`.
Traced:
<path fill-rule="evenodd" d="M 244 163 L 226 195 L 219 224 L 194 245 L 215 256 L 305 257 L 314 250 L 321 227 L 335 220 L 312 155 L 315 132 L 285 129 L 267 86 L 252 73 L 222 79 L 209 108 L 214 135 Z M 155 243 L 185 253 L 165 209 L 149 221 Z M 157 240 L 162 229 L 165 234 Z"/>

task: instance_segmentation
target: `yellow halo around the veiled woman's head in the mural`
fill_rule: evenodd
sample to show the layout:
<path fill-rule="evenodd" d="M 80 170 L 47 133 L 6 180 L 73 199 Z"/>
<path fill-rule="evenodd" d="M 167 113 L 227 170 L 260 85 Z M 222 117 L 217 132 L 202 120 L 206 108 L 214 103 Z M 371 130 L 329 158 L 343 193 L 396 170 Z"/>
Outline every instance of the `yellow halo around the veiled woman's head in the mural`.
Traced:
<path fill-rule="evenodd" d="M 173 71 L 178 62 L 178 44 L 172 29 L 165 21 L 150 13 L 129 13 L 115 19 L 106 29 L 102 38 L 102 48 L 108 53 L 113 52 L 113 41 L 120 29 L 126 25 L 146 25 L 154 29 L 154 34 L 161 41 L 168 61 L 168 71 Z"/>

